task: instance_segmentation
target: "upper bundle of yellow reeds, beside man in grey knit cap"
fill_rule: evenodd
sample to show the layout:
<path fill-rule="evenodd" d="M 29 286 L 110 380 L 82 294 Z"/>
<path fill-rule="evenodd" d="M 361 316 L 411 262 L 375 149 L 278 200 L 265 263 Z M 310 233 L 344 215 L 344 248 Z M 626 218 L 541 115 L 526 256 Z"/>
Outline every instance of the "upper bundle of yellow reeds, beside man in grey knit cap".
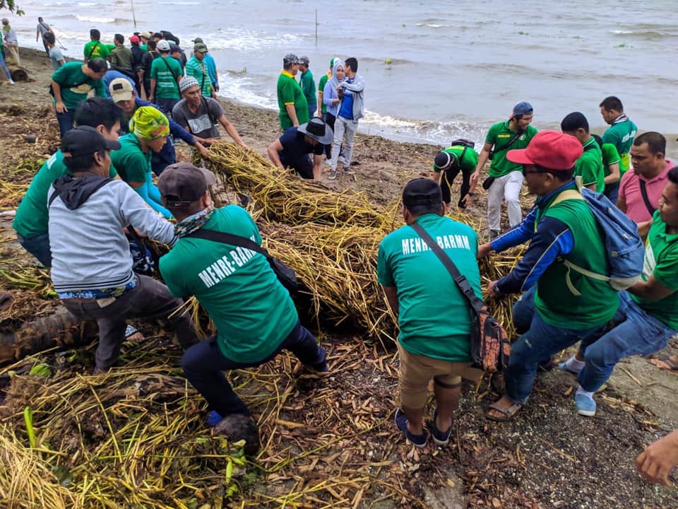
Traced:
<path fill-rule="evenodd" d="M 206 163 L 222 183 L 256 200 L 266 221 L 291 225 L 314 221 L 387 230 L 397 221 L 397 200 L 384 207 L 369 201 L 362 192 L 332 191 L 319 182 L 275 168 L 260 154 L 238 145 L 213 144 Z"/>

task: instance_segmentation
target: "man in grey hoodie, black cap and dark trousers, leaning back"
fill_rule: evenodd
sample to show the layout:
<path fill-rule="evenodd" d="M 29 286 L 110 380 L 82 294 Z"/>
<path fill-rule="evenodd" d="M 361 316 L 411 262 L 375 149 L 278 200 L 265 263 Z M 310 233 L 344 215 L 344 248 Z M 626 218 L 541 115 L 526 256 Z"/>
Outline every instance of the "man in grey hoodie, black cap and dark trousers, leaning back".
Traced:
<path fill-rule="evenodd" d="M 57 178 L 47 194 L 52 283 L 73 315 L 97 320 L 95 373 L 117 361 L 127 318 L 165 318 L 184 349 L 197 342 L 191 317 L 174 313 L 183 301 L 159 281 L 132 271 L 124 228 L 134 227 L 168 245 L 177 237 L 172 223 L 146 206 L 126 182 L 109 177 L 110 151 L 119 148 L 119 142 L 92 127 L 67 132 L 61 153 L 71 175 Z"/>

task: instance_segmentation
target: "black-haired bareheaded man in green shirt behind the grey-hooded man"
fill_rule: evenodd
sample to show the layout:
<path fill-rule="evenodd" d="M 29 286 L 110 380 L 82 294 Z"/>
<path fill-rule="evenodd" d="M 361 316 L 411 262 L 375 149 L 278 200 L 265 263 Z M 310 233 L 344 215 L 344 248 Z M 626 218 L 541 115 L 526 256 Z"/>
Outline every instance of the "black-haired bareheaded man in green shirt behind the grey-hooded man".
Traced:
<path fill-rule="evenodd" d="M 111 101 L 90 98 L 78 107 L 75 119 L 78 126 L 93 127 L 105 139 L 118 141 L 122 112 Z M 43 163 L 33 177 L 12 222 L 19 244 L 44 267 L 52 267 L 52 252 L 49 251 L 47 232 L 47 192 L 52 182 L 66 171 L 64 155 L 58 150 Z M 110 167 L 109 176 L 117 177 L 113 165 Z"/>

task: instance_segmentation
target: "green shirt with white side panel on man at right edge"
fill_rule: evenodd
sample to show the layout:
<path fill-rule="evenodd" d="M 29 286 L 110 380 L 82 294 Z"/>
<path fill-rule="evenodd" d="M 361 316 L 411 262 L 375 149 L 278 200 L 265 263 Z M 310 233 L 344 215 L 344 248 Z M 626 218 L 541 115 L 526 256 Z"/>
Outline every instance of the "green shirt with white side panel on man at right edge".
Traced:
<path fill-rule="evenodd" d="M 655 279 L 673 291 L 670 296 L 655 300 L 645 300 L 631 294 L 631 298 L 650 315 L 678 330 L 678 233 L 666 233 L 666 223 L 659 211 L 653 215 L 652 226 L 645 244 L 645 264 L 643 281 L 655 276 Z"/>

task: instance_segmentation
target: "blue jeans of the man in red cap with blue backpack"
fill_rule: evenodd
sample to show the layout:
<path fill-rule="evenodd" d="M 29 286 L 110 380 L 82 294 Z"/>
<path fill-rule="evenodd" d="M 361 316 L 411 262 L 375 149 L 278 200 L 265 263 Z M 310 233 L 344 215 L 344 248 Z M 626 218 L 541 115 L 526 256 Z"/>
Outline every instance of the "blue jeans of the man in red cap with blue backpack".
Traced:
<path fill-rule="evenodd" d="M 530 329 L 511 346 L 511 360 L 506 369 L 506 395 L 514 402 L 523 401 L 532 392 L 541 361 L 554 353 L 581 341 L 585 348 L 600 337 L 604 326 L 590 329 L 562 329 L 547 324 L 538 312 L 530 322 Z"/>

